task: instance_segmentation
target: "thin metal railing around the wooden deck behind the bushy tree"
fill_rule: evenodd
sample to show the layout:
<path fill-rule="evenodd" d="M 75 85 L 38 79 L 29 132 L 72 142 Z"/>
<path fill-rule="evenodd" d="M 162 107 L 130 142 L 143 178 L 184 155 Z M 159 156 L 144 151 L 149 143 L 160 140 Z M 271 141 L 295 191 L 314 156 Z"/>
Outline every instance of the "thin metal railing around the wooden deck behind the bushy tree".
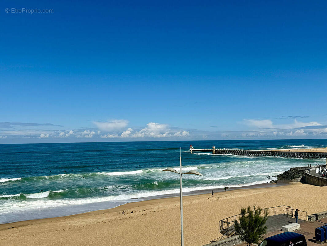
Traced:
<path fill-rule="evenodd" d="M 264 214 L 266 210 L 268 212 L 268 216 L 284 214 L 285 216 L 293 217 L 294 212 L 295 212 L 295 210 L 293 212 L 293 208 L 291 206 L 282 205 L 282 206 L 264 208 L 264 209 L 262 209 L 261 214 Z M 298 210 L 298 213 L 299 213 L 299 219 L 308 220 L 306 211 Z M 234 220 L 239 221 L 240 215 L 241 214 L 238 214 L 238 215 L 234 215 L 234 216 L 220 220 L 219 221 L 219 232 L 221 234 L 224 234 L 224 230 L 228 230 L 230 226 L 234 225 Z"/>

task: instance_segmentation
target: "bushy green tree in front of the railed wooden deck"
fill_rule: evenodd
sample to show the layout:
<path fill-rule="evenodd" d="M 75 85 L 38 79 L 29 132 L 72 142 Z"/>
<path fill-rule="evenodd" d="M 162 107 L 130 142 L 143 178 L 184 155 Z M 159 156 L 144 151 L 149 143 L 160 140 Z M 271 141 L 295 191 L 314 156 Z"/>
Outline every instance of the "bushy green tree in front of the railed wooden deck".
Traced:
<path fill-rule="evenodd" d="M 239 216 L 239 222 L 234 220 L 235 232 L 239 235 L 242 241 L 246 241 L 251 246 L 251 243 L 259 243 L 262 240 L 262 236 L 266 234 L 267 226 L 265 226 L 268 211 L 264 210 L 261 215 L 262 209 L 257 209 L 253 206 L 253 210 L 249 206 L 248 209 L 241 208 L 241 216 Z"/>

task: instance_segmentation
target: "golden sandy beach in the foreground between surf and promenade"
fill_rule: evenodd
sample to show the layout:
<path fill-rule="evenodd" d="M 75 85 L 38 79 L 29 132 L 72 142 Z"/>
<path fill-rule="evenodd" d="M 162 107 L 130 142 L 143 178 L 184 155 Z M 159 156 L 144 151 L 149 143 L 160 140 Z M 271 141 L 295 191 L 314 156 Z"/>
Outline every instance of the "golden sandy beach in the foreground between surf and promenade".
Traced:
<path fill-rule="evenodd" d="M 308 214 L 326 211 L 317 194 L 325 187 L 291 183 L 185 196 L 185 245 L 203 245 L 219 236 L 219 220 L 239 214 L 242 206 L 289 205 Z M 125 215 L 120 214 L 127 210 Z M 133 211 L 133 213 L 131 213 Z M 179 197 L 128 203 L 113 209 L 0 225 L 2 245 L 180 245 Z"/>

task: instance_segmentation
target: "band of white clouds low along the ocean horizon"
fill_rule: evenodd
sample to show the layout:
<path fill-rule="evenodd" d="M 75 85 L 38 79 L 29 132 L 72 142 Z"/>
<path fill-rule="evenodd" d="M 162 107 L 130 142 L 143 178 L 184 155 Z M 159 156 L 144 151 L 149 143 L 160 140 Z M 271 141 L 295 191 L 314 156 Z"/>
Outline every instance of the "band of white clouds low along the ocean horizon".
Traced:
<path fill-rule="evenodd" d="M 325 138 L 327 125 L 316 121 L 301 122 L 295 118 L 289 124 L 275 124 L 271 119 L 243 119 L 237 122 L 246 130 L 203 131 L 172 127 L 168 124 L 149 122 L 144 127 L 128 126 L 125 119 L 93 121 L 94 128 L 41 129 L 56 127 L 51 123 L 0 122 L 0 143 L 21 142 L 88 142 L 88 141 L 151 141 L 151 140 L 225 140 L 225 139 L 281 139 Z M 5 123 L 5 124 L 4 124 Z M 9 127 L 8 127 L 9 126 Z M 15 127 L 20 126 L 19 129 Z M 34 127 L 37 129 L 31 129 Z"/>

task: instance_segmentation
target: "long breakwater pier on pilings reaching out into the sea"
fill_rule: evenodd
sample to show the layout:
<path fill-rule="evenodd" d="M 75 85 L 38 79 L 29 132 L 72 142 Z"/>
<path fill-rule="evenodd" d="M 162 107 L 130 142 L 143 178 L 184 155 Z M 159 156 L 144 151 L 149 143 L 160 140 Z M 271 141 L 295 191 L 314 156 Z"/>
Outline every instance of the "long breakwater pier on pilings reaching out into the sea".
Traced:
<path fill-rule="evenodd" d="M 243 150 L 243 149 L 190 149 L 193 152 L 210 152 L 212 154 L 233 154 L 247 156 L 279 156 L 292 158 L 327 158 L 327 152 L 305 150 Z"/>

